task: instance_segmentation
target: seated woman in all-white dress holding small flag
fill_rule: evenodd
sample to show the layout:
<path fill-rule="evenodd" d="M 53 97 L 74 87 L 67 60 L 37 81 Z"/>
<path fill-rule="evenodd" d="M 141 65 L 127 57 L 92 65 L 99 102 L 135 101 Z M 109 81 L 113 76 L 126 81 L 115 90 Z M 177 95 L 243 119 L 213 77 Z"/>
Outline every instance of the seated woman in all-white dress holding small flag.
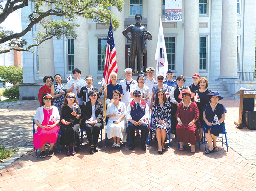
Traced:
<path fill-rule="evenodd" d="M 108 117 L 106 133 L 107 138 L 113 138 L 112 147 L 120 147 L 120 139 L 126 141 L 126 105 L 120 102 L 121 93 L 118 90 L 112 92 L 114 102 L 107 107 L 106 116 Z"/>

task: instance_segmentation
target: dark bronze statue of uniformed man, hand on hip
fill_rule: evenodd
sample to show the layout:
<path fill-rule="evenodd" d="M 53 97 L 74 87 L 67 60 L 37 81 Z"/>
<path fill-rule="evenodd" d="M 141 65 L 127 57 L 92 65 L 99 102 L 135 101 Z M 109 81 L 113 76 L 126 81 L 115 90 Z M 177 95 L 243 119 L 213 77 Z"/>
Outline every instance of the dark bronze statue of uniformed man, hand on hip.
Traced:
<path fill-rule="evenodd" d="M 143 52 L 147 52 L 147 39 L 152 40 L 151 34 L 146 31 L 145 27 L 141 26 L 140 22 L 142 20 L 142 15 L 135 15 L 136 23 L 130 25 L 123 31 L 123 35 L 126 39 L 131 41 L 130 45 L 130 63 L 132 71 L 135 69 L 135 58 L 137 57 L 139 73 L 143 74 L 142 65 L 143 65 Z M 131 37 L 128 33 L 131 32 Z"/>

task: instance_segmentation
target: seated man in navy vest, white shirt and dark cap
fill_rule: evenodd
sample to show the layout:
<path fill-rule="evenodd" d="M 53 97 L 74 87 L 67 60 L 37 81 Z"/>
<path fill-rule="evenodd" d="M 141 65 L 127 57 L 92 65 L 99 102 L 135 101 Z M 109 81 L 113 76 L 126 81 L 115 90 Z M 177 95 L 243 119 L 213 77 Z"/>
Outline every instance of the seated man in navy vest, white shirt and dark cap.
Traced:
<path fill-rule="evenodd" d="M 149 119 L 149 107 L 148 105 L 141 101 L 141 92 L 135 90 L 133 92 L 134 101 L 130 103 L 127 107 L 127 120 L 128 126 L 126 129 L 128 138 L 129 138 L 129 150 L 134 149 L 133 139 L 134 139 L 134 131 L 136 128 L 140 128 L 141 131 L 141 149 L 145 151 L 146 147 L 146 139 L 149 135 L 148 122 Z M 143 124 L 143 120 L 145 120 Z"/>

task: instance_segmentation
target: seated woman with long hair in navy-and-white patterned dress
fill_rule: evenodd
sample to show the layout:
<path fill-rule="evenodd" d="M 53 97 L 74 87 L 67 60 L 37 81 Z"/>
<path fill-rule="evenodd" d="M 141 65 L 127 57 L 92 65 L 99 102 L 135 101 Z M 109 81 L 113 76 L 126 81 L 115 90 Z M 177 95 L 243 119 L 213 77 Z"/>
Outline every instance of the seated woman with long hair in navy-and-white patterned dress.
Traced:
<path fill-rule="evenodd" d="M 163 89 L 159 89 L 156 93 L 156 99 L 152 107 L 152 115 L 155 119 L 152 124 L 152 133 L 156 133 L 158 153 L 163 154 L 165 151 L 163 144 L 166 133 L 171 128 L 169 121 L 171 116 L 171 103 L 167 101 Z"/>

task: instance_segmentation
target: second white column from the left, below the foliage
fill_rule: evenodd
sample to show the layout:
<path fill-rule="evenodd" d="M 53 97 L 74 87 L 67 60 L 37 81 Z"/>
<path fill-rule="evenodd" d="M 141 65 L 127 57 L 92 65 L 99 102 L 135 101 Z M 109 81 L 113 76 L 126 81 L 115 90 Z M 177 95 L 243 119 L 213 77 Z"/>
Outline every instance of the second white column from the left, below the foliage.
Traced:
<path fill-rule="evenodd" d="M 78 35 L 74 41 L 74 67 L 81 70 L 84 78 L 90 74 L 88 19 L 78 17 L 74 23 L 80 25 L 74 29 Z"/>

